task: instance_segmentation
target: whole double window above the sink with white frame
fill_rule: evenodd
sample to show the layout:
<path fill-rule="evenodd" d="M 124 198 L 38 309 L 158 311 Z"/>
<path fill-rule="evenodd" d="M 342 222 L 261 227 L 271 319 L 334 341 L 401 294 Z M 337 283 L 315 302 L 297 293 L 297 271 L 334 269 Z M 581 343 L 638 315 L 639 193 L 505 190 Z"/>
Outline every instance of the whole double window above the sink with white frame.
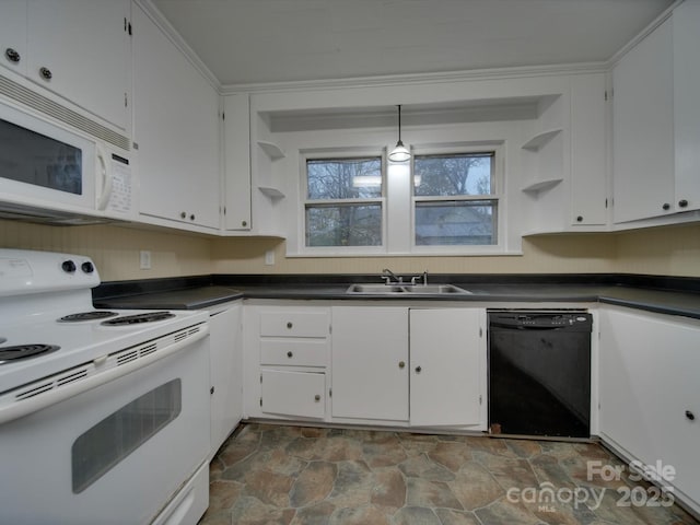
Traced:
<path fill-rule="evenodd" d="M 413 147 L 410 162 L 350 144 L 300 150 L 293 255 L 508 253 L 502 141 Z"/>

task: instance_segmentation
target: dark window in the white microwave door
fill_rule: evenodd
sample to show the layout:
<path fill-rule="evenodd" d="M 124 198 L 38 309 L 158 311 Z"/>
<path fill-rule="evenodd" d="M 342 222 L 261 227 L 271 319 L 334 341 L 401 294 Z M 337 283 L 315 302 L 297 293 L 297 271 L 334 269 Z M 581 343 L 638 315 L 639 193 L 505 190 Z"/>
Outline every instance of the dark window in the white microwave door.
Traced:
<path fill-rule="evenodd" d="M 0 172 L 19 183 L 82 195 L 82 151 L 0 120 Z"/>

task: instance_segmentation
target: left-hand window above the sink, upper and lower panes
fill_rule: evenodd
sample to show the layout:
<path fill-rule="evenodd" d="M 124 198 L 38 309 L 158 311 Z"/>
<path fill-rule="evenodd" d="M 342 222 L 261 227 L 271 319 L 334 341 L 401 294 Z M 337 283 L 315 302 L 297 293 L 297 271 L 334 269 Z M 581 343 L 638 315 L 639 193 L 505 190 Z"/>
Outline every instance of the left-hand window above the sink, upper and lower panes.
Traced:
<path fill-rule="evenodd" d="M 305 245 L 382 246 L 383 159 L 306 159 Z"/>

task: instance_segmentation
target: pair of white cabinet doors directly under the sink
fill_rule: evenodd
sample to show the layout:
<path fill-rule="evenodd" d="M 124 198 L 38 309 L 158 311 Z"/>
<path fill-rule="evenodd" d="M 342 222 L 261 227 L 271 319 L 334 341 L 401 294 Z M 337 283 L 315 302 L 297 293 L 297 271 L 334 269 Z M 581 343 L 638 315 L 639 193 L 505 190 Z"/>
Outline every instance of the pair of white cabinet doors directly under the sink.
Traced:
<path fill-rule="evenodd" d="M 483 308 L 332 308 L 332 418 L 486 430 Z"/>

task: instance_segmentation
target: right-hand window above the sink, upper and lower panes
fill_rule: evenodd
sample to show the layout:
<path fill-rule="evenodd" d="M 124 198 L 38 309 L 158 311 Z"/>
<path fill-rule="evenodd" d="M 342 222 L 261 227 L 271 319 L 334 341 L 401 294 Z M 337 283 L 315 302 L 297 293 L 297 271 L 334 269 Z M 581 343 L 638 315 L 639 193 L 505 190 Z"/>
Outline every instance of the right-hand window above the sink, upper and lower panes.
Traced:
<path fill-rule="evenodd" d="M 416 246 L 498 244 L 494 153 L 413 158 Z"/>

